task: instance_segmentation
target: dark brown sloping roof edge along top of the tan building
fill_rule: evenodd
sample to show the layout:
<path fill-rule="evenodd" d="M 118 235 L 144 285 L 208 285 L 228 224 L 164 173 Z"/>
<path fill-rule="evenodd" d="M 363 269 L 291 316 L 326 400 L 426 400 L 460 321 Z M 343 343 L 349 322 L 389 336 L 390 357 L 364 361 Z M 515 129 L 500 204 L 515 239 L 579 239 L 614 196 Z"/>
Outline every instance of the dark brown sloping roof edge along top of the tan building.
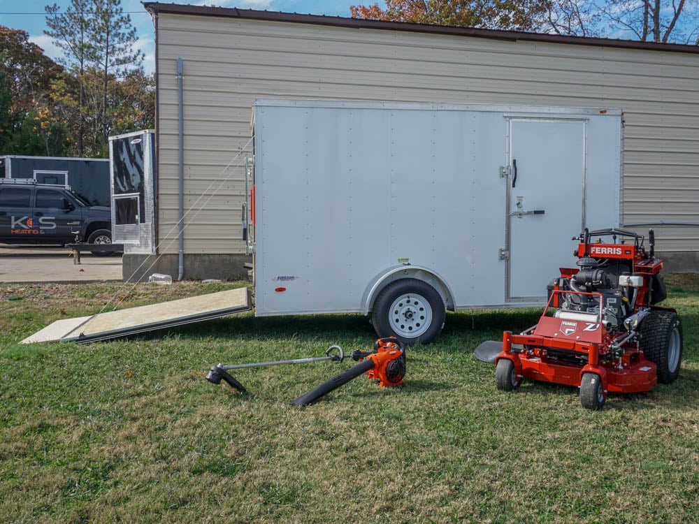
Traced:
<path fill-rule="evenodd" d="M 294 22 L 297 24 L 316 24 L 350 29 L 388 29 L 392 31 L 411 31 L 415 33 L 432 33 L 452 36 L 472 36 L 503 41 L 531 41 L 542 43 L 561 43 L 573 45 L 593 45 L 605 48 L 637 49 L 646 51 L 669 51 L 699 53 L 699 45 L 642 42 L 633 40 L 616 40 L 613 38 L 589 38 L 585 36 L 561 36 L 542 33 L 525 33 L 519 31 L 500 31 L 496 29 L 476 29 L 473 27 L 449 27 L 408 22 L 384 22 L 380 20 L 362 20 L 326 15 L 299 15 L 297 13 L 280 13 L 278 11 L 190 6 L 179 3 L 143 2 L 145 9 L 152 15 L 168 13 L 173 15 L 200 15 L 213 17 L 243 18 L 247 20 L 266 20 L 271 22 Z"/>

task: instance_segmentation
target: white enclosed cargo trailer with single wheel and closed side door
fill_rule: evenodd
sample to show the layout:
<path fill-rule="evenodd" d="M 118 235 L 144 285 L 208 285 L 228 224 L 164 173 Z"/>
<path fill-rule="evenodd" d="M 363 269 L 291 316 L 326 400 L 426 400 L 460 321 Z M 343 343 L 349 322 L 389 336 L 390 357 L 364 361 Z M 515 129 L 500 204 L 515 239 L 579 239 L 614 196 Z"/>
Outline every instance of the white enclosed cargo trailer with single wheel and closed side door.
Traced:
<path fill-rule="evenodd" d="M 618 109 L 257 100 L 252 124 L 258 316 L 428 342 L 445 309 L 540 305 L 568 240 L 619 226 Z"/>

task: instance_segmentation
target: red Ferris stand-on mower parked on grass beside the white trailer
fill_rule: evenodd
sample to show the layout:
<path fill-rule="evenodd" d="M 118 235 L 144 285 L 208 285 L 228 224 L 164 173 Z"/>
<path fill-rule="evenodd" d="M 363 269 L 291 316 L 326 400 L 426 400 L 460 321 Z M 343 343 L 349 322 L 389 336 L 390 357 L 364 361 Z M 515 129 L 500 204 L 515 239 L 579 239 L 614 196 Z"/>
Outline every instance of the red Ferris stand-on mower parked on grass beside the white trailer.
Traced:
<path fill-rule="evenodd" d="M 663 261 L 643 236 L 621 229 L 578 238 L 577 268 L 561 268 L 536 326 L 503 342 L 484 342 L 475 356 L 496 364 L 503 391 L 528 379 L 579 386 L 580 402 L 601 409 L 607 393 L 650 391 L 670 384 L 682 361 L 682 323 L 657 304 L 667 295 L 658 274 Z"/>

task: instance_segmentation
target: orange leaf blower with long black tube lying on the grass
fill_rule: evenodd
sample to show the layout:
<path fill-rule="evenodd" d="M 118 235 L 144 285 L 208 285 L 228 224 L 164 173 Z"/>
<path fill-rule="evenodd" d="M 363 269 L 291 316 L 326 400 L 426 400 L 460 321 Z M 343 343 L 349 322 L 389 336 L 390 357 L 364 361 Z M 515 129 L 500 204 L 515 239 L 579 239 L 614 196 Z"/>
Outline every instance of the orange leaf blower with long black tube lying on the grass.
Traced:
<path fill-rule="evenodd" d="M 359 364 L 336 374 L 329 381 L 292 400 L 291 405 L 312 404 L 350 380 L 356 379 L 362 373 L 366 373 L 369 379 L 377 381 L 380 387 L 398 386 L 405 377 L 405 347 L 396 337 L 380 338 L 374 344 L 373 351 L 353 351 L 352 360 L 359 361 Z"/>

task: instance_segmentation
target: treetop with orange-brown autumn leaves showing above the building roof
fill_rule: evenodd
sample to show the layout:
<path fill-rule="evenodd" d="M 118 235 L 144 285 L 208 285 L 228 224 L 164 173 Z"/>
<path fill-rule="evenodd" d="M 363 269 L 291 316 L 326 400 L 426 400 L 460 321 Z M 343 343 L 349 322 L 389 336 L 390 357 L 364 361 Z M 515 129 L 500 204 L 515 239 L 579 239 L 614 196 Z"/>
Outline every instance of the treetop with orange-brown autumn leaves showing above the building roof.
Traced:
<path fill-rule="evenodd" d="M 548 4 L 549 0 L 386 0 L 386 9 L 374 3 L 350 6 L 349 12 L 370 20 L 533 31 L 545 20 Z"/>

